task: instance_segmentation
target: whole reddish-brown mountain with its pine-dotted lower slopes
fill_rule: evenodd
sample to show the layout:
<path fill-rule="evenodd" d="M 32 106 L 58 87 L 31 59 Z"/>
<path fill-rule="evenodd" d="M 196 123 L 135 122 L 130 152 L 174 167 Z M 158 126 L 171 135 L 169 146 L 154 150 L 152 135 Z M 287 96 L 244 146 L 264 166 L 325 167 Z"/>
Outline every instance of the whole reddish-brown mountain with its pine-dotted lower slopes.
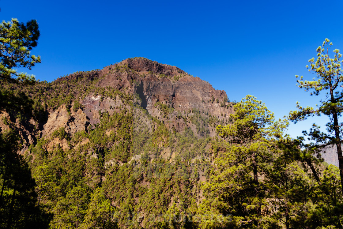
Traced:
<path fill-rule="evenodd" d="M 0 132 L 12 126 L 19 133 L 39 204 L 55 214 L 51 227 L 70 227 L 61 212 L 71 214 L 65 201 L 76 189 L 102 190 L 112 211 L 142 212 L 134 228 L 157 227 L 147 214 L 164 214 L 175 203 L 196 211 L 200 183 L 225 144 L 215 128 L 232 122 L 234 104 L 224 91 L 145 58 L 9 87 L 28 94 L 32 113 L 1 111 Z"/>

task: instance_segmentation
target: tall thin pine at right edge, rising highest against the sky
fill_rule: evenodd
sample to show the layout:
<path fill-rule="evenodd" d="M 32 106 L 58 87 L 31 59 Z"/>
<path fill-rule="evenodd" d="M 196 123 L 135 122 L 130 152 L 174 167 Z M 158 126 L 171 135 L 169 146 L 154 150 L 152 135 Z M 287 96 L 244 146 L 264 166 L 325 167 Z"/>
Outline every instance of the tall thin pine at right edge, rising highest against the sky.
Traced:
<path fill-rule="evenodd" d="M 337 148 L 339 170 L 341 177 L 341 189 L 343 190 L 343 155 L 342 155 L 342 122 L 339 122 L 339 117 L 343 111 L 343 72 L 341 64 L 342 54 L 339 53 L 339 49 L 333 50 L 333 58 L 330 58 L 329 48 L 332 43 L 329 39 L 325 39 L 322 46 L 316 49 L 317 60 L 311 58 L 309 60 L 310 66 L 306 66 L 309 72 L 317 74 L 317 80 L 315 78 L 312 81 L 303 80 L 303 76 L 300 79 L 297 77 L 297 86 L 310 91 L 310 95 L 319 96 L 320 93 L 325 93 L 325 99 L 321 99 L 317 108 L 302 107 L 297 103 L 297 111 L 291 111 L 289 113 L 289 119 L 294 123 L 298 121 L 306 120 L 308 117 L 326 115 L 329 118 L 329 122 L 326 124 L 327 133 L 321 132 L 319 126 L 313 124 L 312 128 L 307 131 L 303 131 L 305 136 L 309 137 L 309 140 L 316 142 L 312 144 L 312 148 L 323 148 L 328 145 L 335 145 Z M 343 193 L 343 192 L 342 192 Z"/>

